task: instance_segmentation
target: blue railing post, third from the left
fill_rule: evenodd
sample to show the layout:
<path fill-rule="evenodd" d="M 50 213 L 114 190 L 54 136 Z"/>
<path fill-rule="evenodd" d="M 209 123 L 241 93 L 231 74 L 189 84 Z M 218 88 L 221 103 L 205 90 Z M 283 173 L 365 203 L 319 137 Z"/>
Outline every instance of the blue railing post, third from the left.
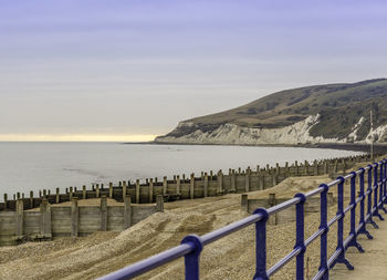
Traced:
<path fill-rule="evenodd" d="M 304 194 L 296 194 L 294 197 L 300 197 L 300 203 L 295 206 L 295 246 L 294 249 L 300 248 L 301 252 L 296 257 L 296 279 L 297 280 L 304 280 L 304 255 L 305 255 L 305 242 L 304 242 L 304 236 L 305 236 L 305 227 L 304 227 L 304 207 L 306 197 Z"/>

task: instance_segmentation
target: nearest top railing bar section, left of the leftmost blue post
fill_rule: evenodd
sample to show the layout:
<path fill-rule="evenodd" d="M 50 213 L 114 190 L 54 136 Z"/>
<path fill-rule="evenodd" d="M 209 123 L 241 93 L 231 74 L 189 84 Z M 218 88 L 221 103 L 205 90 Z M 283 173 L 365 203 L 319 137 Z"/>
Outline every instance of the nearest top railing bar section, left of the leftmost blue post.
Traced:
<path fill-rule="evenodd" d="M 179 245 L 174 247 L 167 251 L 160 252 L 156 256 L 153 256 L 143 261 L 136 262 L 132 266 L 112 272 L 107 276 L 100 278 L 100 280 L 121 280 L 121 279 L 129 279 L 136 276 L 140 276 L 154 268 L 160 267 L 167 262 L 176 260 L 182 256 L 192 251 L 192 247 L 189 243 Z"/>

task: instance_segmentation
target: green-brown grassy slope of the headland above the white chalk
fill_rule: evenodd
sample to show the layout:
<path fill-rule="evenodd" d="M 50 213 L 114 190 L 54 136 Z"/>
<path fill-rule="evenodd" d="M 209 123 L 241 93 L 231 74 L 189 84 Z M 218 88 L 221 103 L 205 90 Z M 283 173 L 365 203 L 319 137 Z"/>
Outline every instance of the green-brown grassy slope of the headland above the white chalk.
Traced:
<path fill-rule="evenodd" d="M 358 131 L 363 139 L 369 129 L 370 108 L 375 113 L 375 126 L 387 123 L 386 79 L 281 91 L 233 110 L 188 120 L 196 126 L 175 129 L 167 136 L 179 137 L 198 128 L 215 131 L 226 123 L 247 127 L 283 127 L 318 113 L 321 120 L 311 129 L 312 136 L 346 137 L 363 116 L 365 122 Z"/>

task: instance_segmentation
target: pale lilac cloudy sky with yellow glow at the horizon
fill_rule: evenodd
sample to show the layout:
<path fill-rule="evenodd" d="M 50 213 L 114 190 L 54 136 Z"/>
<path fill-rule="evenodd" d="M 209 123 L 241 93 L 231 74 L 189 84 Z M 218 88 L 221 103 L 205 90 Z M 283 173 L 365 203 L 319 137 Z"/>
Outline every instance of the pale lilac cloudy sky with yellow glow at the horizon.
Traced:
<path fill-rule="evenodd" d="M 149 141 L 297 86 L 387 77 L 387 1 L 0 0 L 0 141 Z"/>

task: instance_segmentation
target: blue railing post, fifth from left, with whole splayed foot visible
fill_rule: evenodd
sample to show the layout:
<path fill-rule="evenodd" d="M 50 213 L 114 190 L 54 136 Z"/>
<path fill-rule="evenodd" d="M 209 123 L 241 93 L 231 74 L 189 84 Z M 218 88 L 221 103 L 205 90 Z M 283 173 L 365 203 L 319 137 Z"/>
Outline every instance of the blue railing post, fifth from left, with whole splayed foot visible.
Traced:
<path fill-rule="evenodd" d="M 344 177 L 337 177 L 339 183 L 337 185 L 337 216 L 341 216 L 337 220 L 337 247 L 336 251 L 341 250 L 337 259 L 332 263 L 332 269 L 336 263 L 344 263 L 347 269 L 353 270 L 354 267 L 349 263 L 349 261 L 345 258 L 345 248 L 344 248 Z"/>

